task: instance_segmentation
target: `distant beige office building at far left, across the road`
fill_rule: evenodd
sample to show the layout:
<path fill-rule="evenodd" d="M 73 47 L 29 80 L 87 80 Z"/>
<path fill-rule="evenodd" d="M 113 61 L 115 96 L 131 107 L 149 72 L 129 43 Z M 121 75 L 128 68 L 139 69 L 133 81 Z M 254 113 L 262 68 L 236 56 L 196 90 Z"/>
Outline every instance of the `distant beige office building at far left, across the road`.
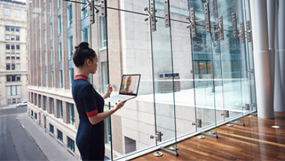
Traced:
<path fill-rule="evenodd" d="M 0 1 L 0 106 L 27 98 L 27 8 L 20 1 Z"/>

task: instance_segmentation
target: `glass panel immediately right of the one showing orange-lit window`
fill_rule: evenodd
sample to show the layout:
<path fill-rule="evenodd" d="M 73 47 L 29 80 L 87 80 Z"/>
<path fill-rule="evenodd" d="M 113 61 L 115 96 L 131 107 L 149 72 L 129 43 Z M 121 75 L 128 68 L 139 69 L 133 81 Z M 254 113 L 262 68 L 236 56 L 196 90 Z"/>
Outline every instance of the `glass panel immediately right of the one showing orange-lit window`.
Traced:
<path fill-rule="evenodd" d="M 223 97 L 224 110 L 229 111 L 229 117 L 234 117 L 243 112 L 243 95 L 248 92 L 243 91 L 241 80 L 246 78 L 246 66 L 244 61 L 244 43 L 241 38 L 233 37 L 232 13 L 237 13 L 237 27 L 242 22 L 243 14 L 238 11 L 241 9 L 240 0 L 233 1 L 231 5 L 228 1 L 218 1 L 219 14 L 223 14 L 224 40 L 220 41 L 221 63 L 223 71 Z M 242 10 L 242 9 L 241 9 Z M 245 87 L 245 86 L 244 86 Z M 246 88 L 247 89 L 247 88 Z M 248 96 L 249 98 L 249 96 Z M 227 119 L 227 118 L 225 118 Z"/>

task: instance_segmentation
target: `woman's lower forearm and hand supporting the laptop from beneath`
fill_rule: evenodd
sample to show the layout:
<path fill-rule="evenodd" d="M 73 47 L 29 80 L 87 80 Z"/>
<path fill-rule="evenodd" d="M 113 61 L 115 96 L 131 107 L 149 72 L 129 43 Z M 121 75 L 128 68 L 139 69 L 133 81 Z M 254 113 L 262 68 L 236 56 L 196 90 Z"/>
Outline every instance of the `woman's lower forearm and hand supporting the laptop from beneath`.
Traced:
<path fill-rule="evenodd" d="M 124 104 L 126 103 L 126 101 L 124 102 L 119 102 L 116 105 L 116 108 L 112 109 L 112 110 L 107 110 L 105 112 L 101 112 L 98 113 L 97 115 L 94 115 L 92 117 L 88 117 L 89 122 L 91 124 L 97 124 L 98 122 L 101 122 L 102 120 L 105 120 L 105 118 L 109 117 L 110 115 L 112 115 L 114 112 L 116 112 L 117 110 L 119 110 L 121 107 L 124 106 Z"/>

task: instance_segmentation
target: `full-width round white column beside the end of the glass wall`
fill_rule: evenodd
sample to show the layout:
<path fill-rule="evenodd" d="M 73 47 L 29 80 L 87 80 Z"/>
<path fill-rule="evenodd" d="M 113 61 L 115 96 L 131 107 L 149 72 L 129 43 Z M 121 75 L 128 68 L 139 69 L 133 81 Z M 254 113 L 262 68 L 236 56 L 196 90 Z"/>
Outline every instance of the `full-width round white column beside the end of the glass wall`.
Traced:
<path fill-rule="evenodd" d="M 252 9 L 253 8 L 253 9 Z M 251 1 L 251 18 L 255 19 L 253 25 L 253 60 L 256 77 L 256 103 L 258 117 L 274 118 L 273 92 L 270 79 L 270 52 L 267 27 L 266 0 Z"/>

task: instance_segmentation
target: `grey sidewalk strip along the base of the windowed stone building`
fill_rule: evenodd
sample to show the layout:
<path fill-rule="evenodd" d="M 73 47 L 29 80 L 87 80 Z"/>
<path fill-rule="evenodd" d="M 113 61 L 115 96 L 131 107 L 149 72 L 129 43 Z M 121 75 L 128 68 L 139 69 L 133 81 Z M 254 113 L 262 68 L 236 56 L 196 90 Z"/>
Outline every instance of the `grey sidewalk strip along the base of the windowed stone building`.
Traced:
<path fill-rule="evenodd" d="M 34 122 L 27 113 L 18 115 L 18 119 L 48 160 L 77 160 L 58 141 L 39 127 L 39 124 Z"/>

